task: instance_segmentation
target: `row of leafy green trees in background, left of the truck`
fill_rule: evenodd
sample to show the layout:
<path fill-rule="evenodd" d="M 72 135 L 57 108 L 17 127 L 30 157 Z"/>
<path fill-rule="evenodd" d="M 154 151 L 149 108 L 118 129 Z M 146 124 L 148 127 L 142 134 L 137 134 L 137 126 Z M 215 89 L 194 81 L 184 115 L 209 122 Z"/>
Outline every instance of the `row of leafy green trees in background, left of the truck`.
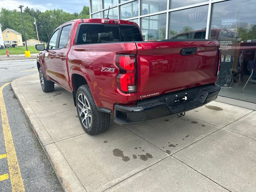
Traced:
<path fill-rule="evenodd" d="M 41 41 L 48 42 L 52 32 L 60 26 L 61 24 L 68 22 L 70 20 L 78 18 L 90 18 L 89 7 L 84 6 L 82 11 L 78 14 L 70 14 L 64 12 L 62 9 L 46 10 L 41 12 L 40 10 L 34 10 L 33 8 L 24 8 L 24 26 L 26 30 L 26 38 L 37 39 L 36 28 L 34 25 L 34 18 L 36 18 L 36 24 L 38 28 L 38 36 Z M 2 8 L 0 10 L 0 23 L 2 24 L 2 29 L 10 28 L 16 30 L 23 34 L 23 26 L 20 10 L 7 10 Z"/>

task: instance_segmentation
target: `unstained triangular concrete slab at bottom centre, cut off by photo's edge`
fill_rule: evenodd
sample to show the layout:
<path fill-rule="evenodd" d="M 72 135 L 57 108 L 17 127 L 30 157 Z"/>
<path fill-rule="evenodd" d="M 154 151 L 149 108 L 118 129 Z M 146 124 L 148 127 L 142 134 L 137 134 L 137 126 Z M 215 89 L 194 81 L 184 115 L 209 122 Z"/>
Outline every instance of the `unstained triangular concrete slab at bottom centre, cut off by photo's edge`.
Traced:
<path fill-rule="evenodd" d="M 227 192 L 179 160 L 168 157 L 108 191 Z"/>

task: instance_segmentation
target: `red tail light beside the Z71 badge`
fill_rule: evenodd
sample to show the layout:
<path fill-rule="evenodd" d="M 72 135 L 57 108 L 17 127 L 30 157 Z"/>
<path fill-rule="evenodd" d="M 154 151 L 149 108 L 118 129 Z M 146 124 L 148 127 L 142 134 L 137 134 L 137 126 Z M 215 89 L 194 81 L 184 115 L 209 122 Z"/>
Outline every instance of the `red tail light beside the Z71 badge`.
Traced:
<path fill-rule="evenodd" d="M 116 77 L 119 90 L 123 93 L 135 93 L 137 91 L 136 56 L 117 55 L 116 66 L 119 68 L 119 74 Z"/>

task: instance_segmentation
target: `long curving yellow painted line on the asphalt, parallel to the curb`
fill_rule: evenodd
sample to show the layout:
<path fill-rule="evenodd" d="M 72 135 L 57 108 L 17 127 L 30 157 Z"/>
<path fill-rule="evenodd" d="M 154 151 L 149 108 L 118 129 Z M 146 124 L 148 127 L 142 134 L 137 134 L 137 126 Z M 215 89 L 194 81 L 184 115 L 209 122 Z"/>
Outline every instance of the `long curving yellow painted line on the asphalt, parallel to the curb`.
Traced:
<path fill-rule="evenodd" d="M 12 140 L 12 133 L 11 133 L 10 125 L 8 122 L 6 107 L 4 104 L 3 88 L 8 84 L 10 84 L 10 82 L 4 84 L 0 88 L 0 110 L 1 110 L 1 116 L 2 116 L 4 143 L 5 143 L 6 154 L 7 154 L 12 192 L 25 192 L 22 176 L 20 173 L 20 166 L 18 163 L 16 151 L 15 151 L 13 140 Z"/>

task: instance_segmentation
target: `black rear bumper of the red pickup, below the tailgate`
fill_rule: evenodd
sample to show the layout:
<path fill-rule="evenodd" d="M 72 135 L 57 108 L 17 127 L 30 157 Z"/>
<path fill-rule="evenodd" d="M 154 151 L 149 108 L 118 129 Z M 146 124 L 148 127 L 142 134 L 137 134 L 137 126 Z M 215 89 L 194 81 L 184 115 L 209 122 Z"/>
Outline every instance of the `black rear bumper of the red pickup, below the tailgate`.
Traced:
<path fill-rule="evenodd" d="M 118 124 L 130 124 L 180 114 L 215 100 L 219 92 L 219 85 L 206 85 L 138 101 L 134 106 L 116 104 L 114 121 Z M 183 102 L 177 100 L 185 96 L 186 100 Z"/>

